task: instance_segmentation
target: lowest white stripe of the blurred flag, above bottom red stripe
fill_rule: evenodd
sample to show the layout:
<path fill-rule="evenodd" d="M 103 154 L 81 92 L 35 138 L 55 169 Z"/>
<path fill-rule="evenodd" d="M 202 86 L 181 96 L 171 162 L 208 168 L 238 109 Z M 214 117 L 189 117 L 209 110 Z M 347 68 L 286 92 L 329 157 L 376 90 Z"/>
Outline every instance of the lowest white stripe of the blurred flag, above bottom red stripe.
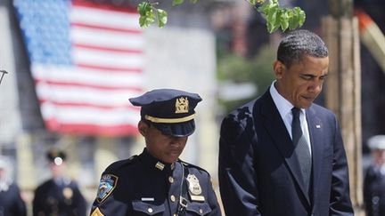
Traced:
<path fill-rule="evenodd" d="M 102 108 L 68 108 L 55 106 L 52 103 L 43 103 L 41 108 L 45 119 L 55 118 L 62 124 L 135 125 L 140 120 L 136 112 L 122 108 L 113 111 Z"/>

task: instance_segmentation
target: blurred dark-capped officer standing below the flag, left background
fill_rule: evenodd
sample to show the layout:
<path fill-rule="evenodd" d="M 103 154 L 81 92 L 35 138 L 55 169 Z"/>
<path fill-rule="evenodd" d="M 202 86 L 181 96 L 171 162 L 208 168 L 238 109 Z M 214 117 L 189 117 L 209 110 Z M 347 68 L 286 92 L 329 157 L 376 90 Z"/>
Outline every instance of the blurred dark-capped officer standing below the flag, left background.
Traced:
<path fill-rule="evenodd" d="M 34 216 L 85 216 L 86 200 L 78 184 L 65 176 L 66 155 L 53 148 L 47 152 L 53 178 L 45 181 L 35 191 Z"/>

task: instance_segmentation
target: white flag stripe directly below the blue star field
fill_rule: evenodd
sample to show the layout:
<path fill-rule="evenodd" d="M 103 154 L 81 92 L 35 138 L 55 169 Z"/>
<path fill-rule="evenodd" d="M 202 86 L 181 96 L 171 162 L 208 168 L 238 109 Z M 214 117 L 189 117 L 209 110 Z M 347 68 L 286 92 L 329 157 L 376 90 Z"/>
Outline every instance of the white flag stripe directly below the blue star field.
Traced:
<path fill-rule="evenodd" d="M 143 74 L 137 72 L 103 71 L 68 66 L 32 64 L 32 72 L 37 80 L 47 82 L 80 83 L 108 87 L 143 86 Z"/>

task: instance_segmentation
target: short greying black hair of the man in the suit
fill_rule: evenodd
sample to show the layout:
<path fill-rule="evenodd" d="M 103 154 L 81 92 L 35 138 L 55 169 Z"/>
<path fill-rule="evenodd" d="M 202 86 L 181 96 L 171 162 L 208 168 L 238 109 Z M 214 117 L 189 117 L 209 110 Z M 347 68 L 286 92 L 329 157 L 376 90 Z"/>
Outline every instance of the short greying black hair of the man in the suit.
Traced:
<path fill-rule="evenodd" d="M 328 48 L 320 36 L 305 29 L 293 30 L 283 36 L 277 50 L 277 60 L 290 68 L 298 63 L 304 55 L 324 58 L 329 55 Z"/>

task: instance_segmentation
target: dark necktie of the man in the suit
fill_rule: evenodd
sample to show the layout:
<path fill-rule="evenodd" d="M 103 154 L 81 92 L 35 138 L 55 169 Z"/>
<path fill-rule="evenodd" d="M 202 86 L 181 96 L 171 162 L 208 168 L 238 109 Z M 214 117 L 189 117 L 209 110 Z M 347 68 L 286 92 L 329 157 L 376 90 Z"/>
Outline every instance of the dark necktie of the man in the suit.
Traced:
<path fill-rule="evenodd" d="M 302 178 L 305 182 L 305 186 L 308 192 L 312 160 L 311 160 L 307 140 L 305 139 L 305 136 L 303 135 L 303 132 L 300 126 L 300 120 L 299 120 L 300 109 L 292 108 L 291 112 L 293 115 L 293 119 L 291 123 L 292 141 L 295 147 L 295 153 L 299 160 L 299 166 L 302 172 Z"/>

